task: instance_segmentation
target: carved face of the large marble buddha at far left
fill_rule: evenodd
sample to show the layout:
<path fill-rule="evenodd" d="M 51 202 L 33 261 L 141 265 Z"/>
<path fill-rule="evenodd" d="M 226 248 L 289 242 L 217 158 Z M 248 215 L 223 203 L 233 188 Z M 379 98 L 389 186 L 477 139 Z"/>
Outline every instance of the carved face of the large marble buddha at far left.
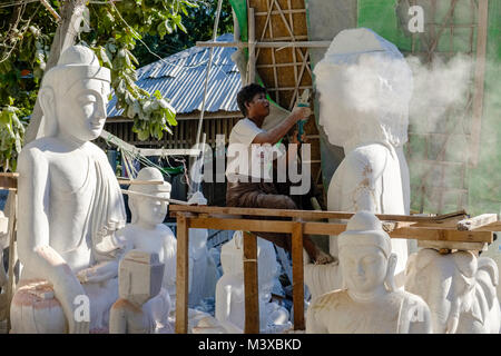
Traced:
<path fill-rule="evenodd" d="M 99 137 L 106 121 L 109 82 L 99 79 L 78 80 L 62 99 L 57 99 L 59 130 L 79 140 Z"/>

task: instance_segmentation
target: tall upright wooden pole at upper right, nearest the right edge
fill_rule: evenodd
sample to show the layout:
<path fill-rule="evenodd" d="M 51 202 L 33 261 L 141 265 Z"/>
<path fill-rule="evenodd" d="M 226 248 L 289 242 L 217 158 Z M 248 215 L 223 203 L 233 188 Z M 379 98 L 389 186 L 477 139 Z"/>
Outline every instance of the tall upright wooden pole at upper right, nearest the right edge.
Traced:
<path fill-rule="evenodd" d="M 483 116 L 483 92 L 485 85 L 485 53 L 489 22 L 489 0 L 479 1 L 479 26 L 477 28 L 477 61 L 473 96 L 473 118 L 471 123 L 470 165 L 479 164 L 480 135 Z"/>

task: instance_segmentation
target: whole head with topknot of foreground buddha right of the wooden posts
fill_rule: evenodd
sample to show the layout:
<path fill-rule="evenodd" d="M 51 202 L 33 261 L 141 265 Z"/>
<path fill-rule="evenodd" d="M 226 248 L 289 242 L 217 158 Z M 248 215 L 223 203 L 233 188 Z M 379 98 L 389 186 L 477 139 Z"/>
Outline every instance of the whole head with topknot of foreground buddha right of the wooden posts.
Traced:
<path fill-rule="evenodd" d="M 381 221 L 369 211 L 356 212 L 338 236 L 340 265 L 345 287 L 352 295 L 393 290 L 396 255 Z"/>

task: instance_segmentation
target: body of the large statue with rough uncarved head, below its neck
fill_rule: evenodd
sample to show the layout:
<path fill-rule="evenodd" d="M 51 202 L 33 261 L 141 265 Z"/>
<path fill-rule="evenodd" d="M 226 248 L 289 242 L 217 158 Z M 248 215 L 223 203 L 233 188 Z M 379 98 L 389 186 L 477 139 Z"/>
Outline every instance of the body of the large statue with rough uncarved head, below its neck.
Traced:
<path fill-rule="evenodd" d="M 392 145 L 361 145 L 347 154 L 334 172 L 327 191 L 327 208 L 330 211 L 409 214 L 406 171 L 405 161 L 402 161 Z M 392 239 L 391 243 L 392 253 L 397 256 L 395 283 L 397 287 L 403 287 L 407 243 L 405 239 Z M 337 236 L 330 237 L 330 253 L 338 256 Z M 343 288 L 342 271 L 337 264 L 307 264 L 304 275 L 312 297 Z"/>

